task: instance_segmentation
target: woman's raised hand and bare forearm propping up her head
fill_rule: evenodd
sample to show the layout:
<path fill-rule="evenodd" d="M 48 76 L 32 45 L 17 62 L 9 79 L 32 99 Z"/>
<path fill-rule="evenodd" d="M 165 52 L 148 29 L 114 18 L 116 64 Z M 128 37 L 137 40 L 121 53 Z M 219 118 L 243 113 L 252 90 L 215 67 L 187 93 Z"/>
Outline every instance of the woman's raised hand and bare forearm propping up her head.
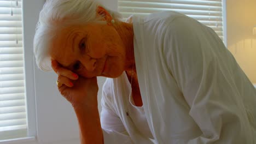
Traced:
<path fill-rule="evenodd" d="M 78 118 L 81 143 L 103 143 L 100 115 L 98 114 L 97 78 L 85 78 L 63 68 L 57 61 L 51 62 L 58 74 L 59 91 L 74 107 Z"/>

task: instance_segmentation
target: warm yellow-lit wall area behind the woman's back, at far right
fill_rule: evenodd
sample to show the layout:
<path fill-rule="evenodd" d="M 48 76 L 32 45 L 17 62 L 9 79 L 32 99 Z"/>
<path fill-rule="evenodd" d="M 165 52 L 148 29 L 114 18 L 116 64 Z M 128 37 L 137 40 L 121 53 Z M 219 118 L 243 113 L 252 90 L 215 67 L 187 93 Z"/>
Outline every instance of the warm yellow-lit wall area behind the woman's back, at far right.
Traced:
<path fill-rule="evenodd" d="M 227 0 L 228 49 L 249 79 L 256 83 L 256 0 Z"/>

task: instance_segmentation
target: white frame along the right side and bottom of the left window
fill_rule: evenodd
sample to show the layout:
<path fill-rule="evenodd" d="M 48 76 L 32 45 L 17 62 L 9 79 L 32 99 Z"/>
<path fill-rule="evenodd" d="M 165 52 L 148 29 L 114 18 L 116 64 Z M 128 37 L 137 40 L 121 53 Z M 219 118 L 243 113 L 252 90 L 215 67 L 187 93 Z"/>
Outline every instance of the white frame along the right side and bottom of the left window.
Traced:
<path fill-rule="evenodd" d="M 24 49 L 24 81 L 25 81 L 25 103 L 27 114 L 27 136 L 18 139 L 1 140 L 5 143 L 27 143 L 36 142 L 37 137 L 37 115 L 36 115 L 36 91 L 34 85 L 34 56 L 33 36 L 38 20 L 39 11 L 45 0 L 25 1 L 22 0 L 22 37 Z M 34 28 L 33 28 L 34 27 Z"/>

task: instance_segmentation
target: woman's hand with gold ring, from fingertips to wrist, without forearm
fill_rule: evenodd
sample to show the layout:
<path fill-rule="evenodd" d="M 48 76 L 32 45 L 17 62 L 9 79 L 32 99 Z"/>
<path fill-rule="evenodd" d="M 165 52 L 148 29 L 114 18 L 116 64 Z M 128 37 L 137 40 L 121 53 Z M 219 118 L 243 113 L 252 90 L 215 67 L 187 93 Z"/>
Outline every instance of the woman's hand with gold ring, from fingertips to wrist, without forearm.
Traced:
<path fill-rule="evenodd" d="M 58 75 L 59 91 L 72 106 L 90 105 L 97 107 L 97 78 L 85 78 L 63 68 L 57 61 L 51 62 L 51 67 Z"/>

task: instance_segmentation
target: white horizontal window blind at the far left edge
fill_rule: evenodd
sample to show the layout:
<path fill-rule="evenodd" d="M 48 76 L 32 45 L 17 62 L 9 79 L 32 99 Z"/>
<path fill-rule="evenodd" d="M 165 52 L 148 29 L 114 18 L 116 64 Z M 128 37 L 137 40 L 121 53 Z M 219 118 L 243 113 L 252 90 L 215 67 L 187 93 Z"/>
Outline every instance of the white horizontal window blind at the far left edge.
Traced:
<path fill-rule="evenodd" d="M 26 136 L 21 0 L 0 0 L 0 140 Z"/>

